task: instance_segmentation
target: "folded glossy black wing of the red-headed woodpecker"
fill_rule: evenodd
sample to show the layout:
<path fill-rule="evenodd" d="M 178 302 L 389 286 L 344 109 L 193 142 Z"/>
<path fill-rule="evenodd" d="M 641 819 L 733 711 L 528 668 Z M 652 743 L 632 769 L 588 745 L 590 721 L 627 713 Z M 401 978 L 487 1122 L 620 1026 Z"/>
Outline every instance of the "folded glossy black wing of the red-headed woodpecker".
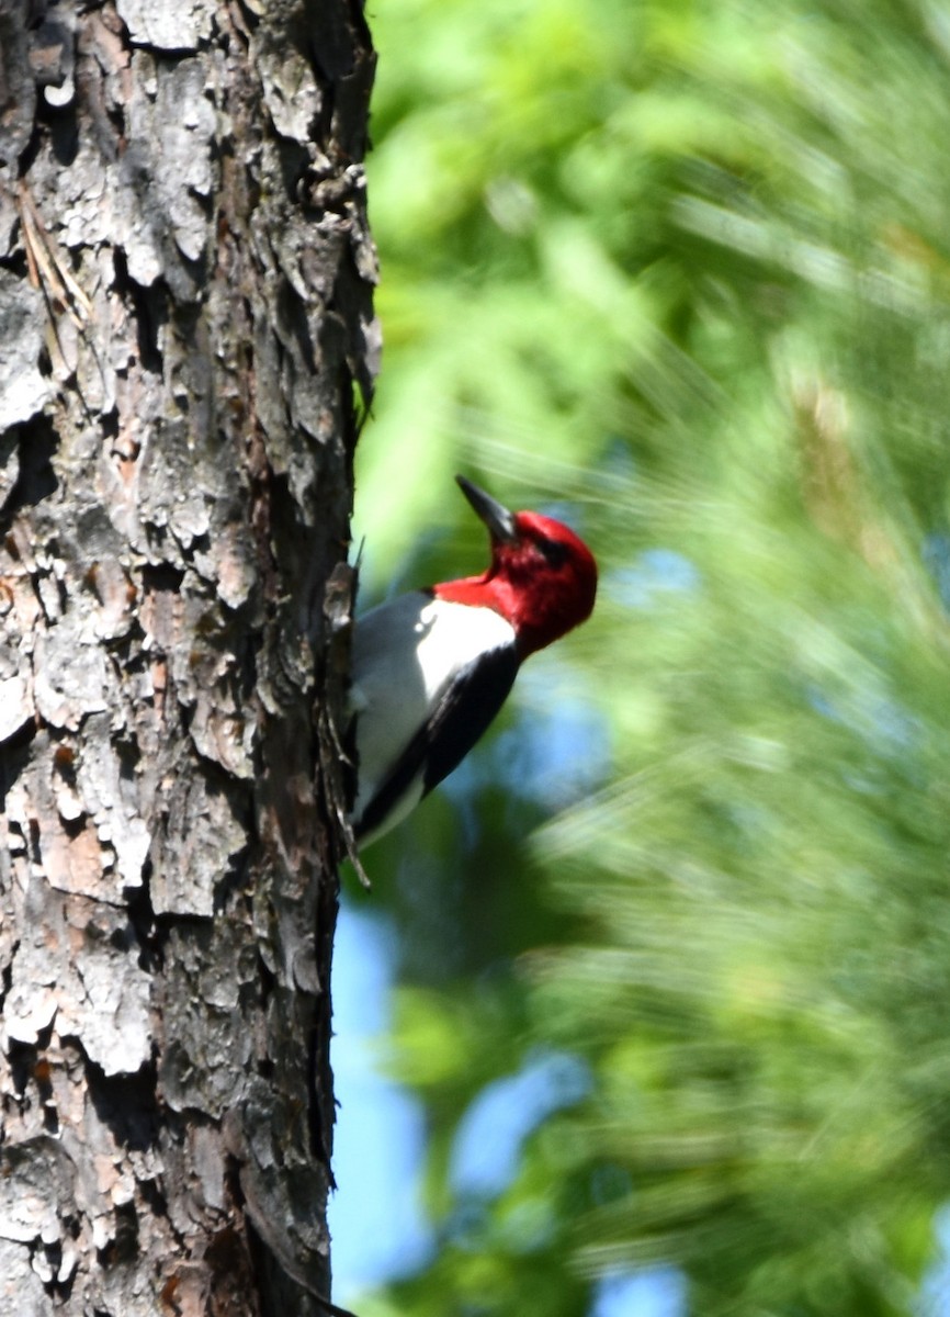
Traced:
<path fill-rule="evenodd" d="M 462 763 L 504 705 L 517 672 L 514 647 L 503 645 L 479 655 L 458 673 L 367 803 L 354 830 L 357 840 L 384 822 L 420 774 L 425 797 Z"/>

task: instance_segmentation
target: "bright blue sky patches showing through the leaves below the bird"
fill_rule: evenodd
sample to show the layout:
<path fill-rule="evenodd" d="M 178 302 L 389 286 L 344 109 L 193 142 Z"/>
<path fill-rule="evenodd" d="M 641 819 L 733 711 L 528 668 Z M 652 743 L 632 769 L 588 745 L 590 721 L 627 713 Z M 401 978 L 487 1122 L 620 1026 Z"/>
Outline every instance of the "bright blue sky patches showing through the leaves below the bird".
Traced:
<path fill-rule="evenodd" d="M 396 932 L 384 915 L 343 902 L 333 960 L 333 1069 L 341 1104 L 334 1139 L 339 1185 L 330 1201 L 333 1299 L 361 1293 L 422 1267 L 434 1249 L 418 1195 L 425 1154 L 422 1108 L 380 1073 L 389 1025 Z M 522 1139 L 550 1112 L 580 1098 L 583 1064 L 558 1052 L 529 1054 L 520 1071 L 489 1084 L 464 1113 L 451 1160 L 463 1193 L 500 1192 Z M 674 1268 L 617 1274 L 596 1287 L 589 1317 L 686 1317 Z"/>

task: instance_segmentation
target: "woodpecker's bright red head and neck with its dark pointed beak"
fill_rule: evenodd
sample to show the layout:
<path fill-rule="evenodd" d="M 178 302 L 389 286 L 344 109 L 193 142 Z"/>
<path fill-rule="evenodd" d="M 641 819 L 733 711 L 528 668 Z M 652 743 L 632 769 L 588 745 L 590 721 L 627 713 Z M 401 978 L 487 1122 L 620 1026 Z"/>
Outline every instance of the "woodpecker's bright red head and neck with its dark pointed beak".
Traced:
<path fill-rule="evenodd" d="M 483 576 L 434 586 L 436 597 L 500 612 L 514 627 L 521 658 L 586 622 L 597 564 L 584 541 L 563 522 L 509 512 L 463 475 L 455 479 L 488 527 L 492 561 Z"/>

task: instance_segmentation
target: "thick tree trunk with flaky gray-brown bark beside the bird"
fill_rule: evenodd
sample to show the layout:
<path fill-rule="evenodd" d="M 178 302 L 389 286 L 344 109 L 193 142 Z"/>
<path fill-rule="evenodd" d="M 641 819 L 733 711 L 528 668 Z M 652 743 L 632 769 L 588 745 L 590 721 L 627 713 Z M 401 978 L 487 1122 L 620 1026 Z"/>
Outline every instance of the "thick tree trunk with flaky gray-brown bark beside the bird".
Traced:
<path fill-rule="evenodd" d="M 0 0 L 0 1314 L 324 1312 L 362 0 Z"/>

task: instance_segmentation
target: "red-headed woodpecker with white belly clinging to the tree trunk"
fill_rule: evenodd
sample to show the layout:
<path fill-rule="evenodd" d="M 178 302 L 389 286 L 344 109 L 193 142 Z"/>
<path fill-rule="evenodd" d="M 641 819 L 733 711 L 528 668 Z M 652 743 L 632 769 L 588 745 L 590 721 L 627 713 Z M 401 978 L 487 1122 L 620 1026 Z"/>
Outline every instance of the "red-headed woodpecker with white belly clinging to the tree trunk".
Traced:
<path fill-rule="evenodd" d="M 451 773 L 497 714 L 524 660 L 593 608 L 597 566 L 574 531 L 538 512 L 509 512 L 457 479 L 488 527 L 488 570 L 400 595 L 354 631 L 353 831 L 361 848 Z"/>

